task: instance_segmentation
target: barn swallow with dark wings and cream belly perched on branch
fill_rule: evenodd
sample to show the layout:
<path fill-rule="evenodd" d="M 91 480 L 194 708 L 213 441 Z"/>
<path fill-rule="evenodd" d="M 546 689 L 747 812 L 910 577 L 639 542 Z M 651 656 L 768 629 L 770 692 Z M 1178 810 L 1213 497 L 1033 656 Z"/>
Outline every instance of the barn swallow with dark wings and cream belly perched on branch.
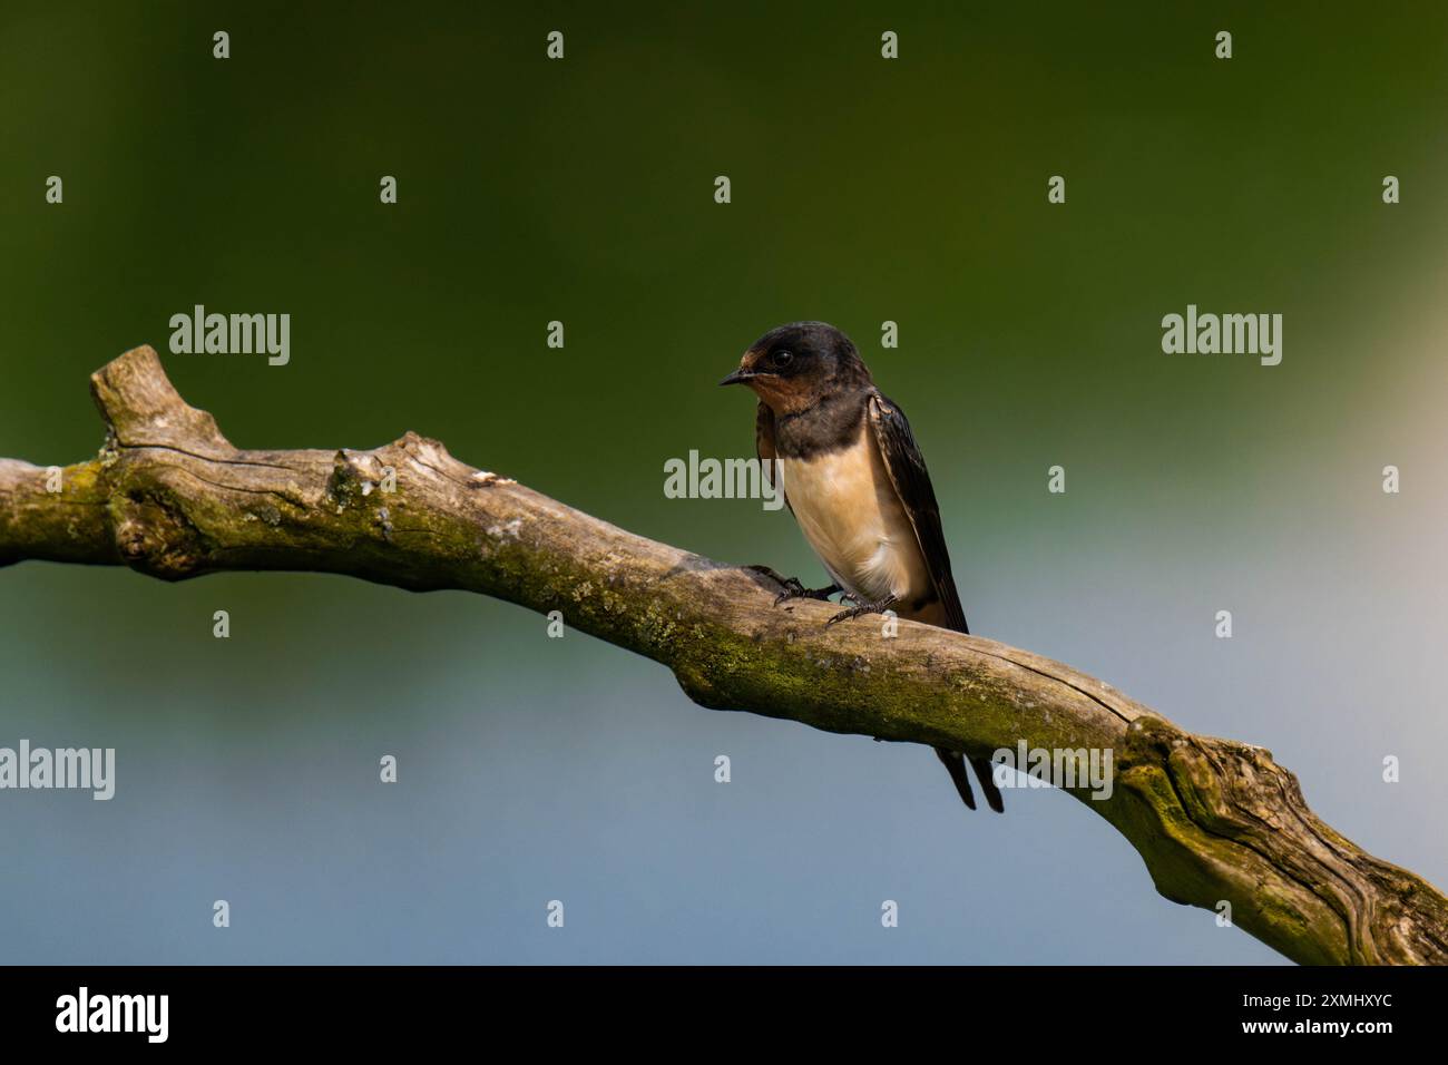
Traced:
<path fill-rule="evenodd" d="M 875 387 L 850 338 L 824 322 L 779 326 L 750 345 L 720 384 L 743 384 L 759 397 L 760 464 L 779 469 L 785 503 L 833 581 L 805 588 L 798 578 L 757 567 L 785 588 L 776 606 L 841 591 L 853 606 L 827 625 L 893 610 L 970 632 L 925 458 L 905 413 Z M 975 810 L 964 755 L 946 748 L 935 753 Z M 986 803 L 1002 811 L 990 761 L 972 758 L 970 765 Z"/>

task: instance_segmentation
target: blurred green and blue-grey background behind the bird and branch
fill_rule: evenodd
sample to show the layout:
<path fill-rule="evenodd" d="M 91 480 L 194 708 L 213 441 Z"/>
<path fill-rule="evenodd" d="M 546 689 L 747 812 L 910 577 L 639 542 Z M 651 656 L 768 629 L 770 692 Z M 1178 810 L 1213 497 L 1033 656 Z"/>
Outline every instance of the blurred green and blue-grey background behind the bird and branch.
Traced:
<path fill-rule="evenodd" d="M 911 416 L 976 632 L 1268 746 L 1448 882 L 1448 12 L 972 7 L 7 3 L 0 455 L 91 454 L 87 375 L 152 343 L 239 446 L 414 429 L 812 581 L 788 513 L 662 484 L 752 454 L 714 383 L 825 319 Z M 290 313 L 291 364 L 167 354 L 197 303 Z M 1164 355 L 1189 303 L 1281 313 L 1281 365 Z M 6 569 L 20 738 L 117 748 L 117 797 L 0 794 L 0 961 L 1279 961 L 1058 794 L 967 817 L 927 751 L 456 593 Z"/>

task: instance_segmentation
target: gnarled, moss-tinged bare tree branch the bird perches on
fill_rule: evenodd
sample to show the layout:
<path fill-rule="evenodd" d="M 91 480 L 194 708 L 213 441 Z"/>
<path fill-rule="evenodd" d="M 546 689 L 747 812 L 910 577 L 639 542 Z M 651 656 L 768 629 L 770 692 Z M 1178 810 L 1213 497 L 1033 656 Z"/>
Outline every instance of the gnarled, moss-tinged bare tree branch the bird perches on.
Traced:
<path fill-rule="evenodd" d="M 1270 752 L 1196 736 L 1108 684 L 979 636 L 901 622 L 824 627 L 773 582 L 634 536 L 407 433 L 374 451 L 239 451 L 187 406 L 156 354 L 91 377 L 109 426 L 88 462 L 0 459 L 0 565 L 349 574 L 462 588 L 546 613 L 660 662 L 695 703 L 989 756 L 1112 751 L 1115 785 L 1070 790 L 1145 859 L 1167 898 L 1232 906 L 1299 962 L 1445 964 L 1448 900 L 1322 823 Z M 395 487 L 388 471 L 395 474 Z"/>

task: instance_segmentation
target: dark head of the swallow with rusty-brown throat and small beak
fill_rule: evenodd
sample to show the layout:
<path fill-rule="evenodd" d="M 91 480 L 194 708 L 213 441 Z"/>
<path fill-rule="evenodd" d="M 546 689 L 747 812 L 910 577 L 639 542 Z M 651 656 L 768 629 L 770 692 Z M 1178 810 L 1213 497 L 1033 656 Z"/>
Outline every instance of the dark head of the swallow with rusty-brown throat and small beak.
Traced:
<path fill-rule="evenodd" d="M 850 338 L 824 322 L 770 329 L 720 384 L 749 385 L 776 414 L 808 410 L 835 393 L 870 384 Z"/>

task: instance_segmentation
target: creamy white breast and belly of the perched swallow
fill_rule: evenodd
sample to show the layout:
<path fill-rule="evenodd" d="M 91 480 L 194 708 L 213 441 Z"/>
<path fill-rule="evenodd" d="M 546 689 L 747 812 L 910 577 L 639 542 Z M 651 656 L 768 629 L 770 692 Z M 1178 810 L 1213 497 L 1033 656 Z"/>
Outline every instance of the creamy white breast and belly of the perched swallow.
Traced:
<path fill-rule="evenodd" d="M 811 459 L 783 459 L 785 494 L 799 529 L 835 582 L 877 601 L 912 600 L 930 575 L 905 509 L 866 423 L 859 442 Z"/>

